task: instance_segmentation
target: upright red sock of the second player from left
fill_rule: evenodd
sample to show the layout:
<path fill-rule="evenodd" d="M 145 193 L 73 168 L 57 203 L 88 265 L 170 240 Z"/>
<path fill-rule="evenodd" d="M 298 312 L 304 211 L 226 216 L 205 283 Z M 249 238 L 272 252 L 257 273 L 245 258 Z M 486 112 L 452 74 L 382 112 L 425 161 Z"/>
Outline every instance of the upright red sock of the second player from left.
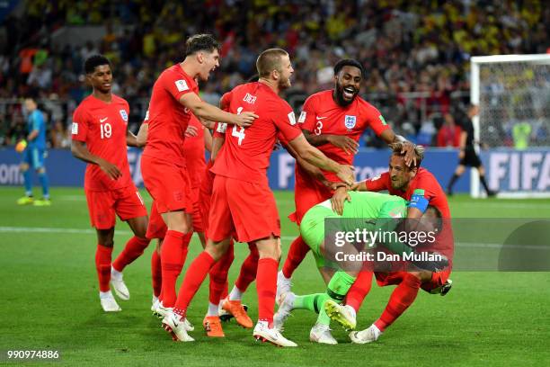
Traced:
<path fill-rule="evenodd" d="M 163 246 L 161 247 L 161 266 L 163 274 L 163 305 L 164 307 L 173 307 L 176 300 L 175 283 L 187 255 L 187 246 L 191 236 L 175 230 L 166 231 Z"/>

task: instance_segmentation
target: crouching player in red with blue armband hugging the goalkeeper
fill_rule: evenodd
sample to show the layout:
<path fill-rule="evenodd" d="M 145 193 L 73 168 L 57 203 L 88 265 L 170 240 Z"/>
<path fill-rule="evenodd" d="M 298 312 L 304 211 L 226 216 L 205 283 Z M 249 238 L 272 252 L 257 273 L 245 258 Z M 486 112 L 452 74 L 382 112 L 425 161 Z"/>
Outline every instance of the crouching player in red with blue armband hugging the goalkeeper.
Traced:
<path fill-rule="evenodd" d="M 416 163 L 412 167 L 409 167 L 404 163 L 404 155 L 401 153 L 402 147 L 399 143 L 395 144 L 393 154 L 390 157 L 389 171 L 359 183 L 357 190 L 374 192 L 386 190 L 392 195 L 401 196 L 405 200 L 410 201 L 407 210 L 409 226 L 417 223 L 411 219 L 420 219 L 428 205 L 437 208 L 441 213 L 443 225 L 437 237 L 437 248 L 435 250 L 447 256 L 449 265 L 439 272 L 426 270 L 420 272 L 375 272 L 374 274 L 379 286 L 396 284 L 397 288 L 395 288 L 395 291 L 390 296 L 382 316 L 373 325 L 363 331 L 350 334 L 350 338 L 354 343 L 364 344 L 376 341 L 384 330 L 386 330 L 386 327 L 393 324 L 395 319 L 399 318 L 412 304 L 420 288 L 424 291 L 439 293 L 441 295 L 447 294 L 450 290 L 452 282 L 448 279 L 448 276 L 452 268 L 454 248 L 447 196 L 430 171 L 420 167 L 424 156 L 424 149 L 421 147 L 415 147 L 414 149 Z M 345 200 L 350 200 L 347 189 L 337 189 L 332 199 L 333 210 L 342 215 L 343 201 Z M 343 319 L 347 327 L 355 326 L 356 313 L 359 311 L 368 291 L 370 291 L 372 275 L 373 272 L 370 271 L 359 273 L 356 282 L 353 283 L 346 296 L 346 306 L 332 305 L 337 310 L 335 320 L 339 321 Z"/>

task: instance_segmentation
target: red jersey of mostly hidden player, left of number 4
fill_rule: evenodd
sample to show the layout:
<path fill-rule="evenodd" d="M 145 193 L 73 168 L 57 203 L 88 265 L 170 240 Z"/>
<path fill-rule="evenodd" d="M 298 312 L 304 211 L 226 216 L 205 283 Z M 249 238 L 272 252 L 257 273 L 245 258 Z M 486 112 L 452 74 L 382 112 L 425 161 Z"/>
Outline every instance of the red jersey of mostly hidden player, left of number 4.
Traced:
<path fill-rule="evenodd" d="M 204 126 L 202 126 L 199 119 L 192 113 L 189 126 L 197 128 L 198 135 L 196 137 L 185 138 L 183 142 L 183 154 L 185 155 L 185 163 L 187 172 L 189 172 L 189 178 L 191 179 L 191 185 L 193 187 L 198 187 L 200 185 L 202 173 L 206 169 L 206 158 L 204 157 Z"/>

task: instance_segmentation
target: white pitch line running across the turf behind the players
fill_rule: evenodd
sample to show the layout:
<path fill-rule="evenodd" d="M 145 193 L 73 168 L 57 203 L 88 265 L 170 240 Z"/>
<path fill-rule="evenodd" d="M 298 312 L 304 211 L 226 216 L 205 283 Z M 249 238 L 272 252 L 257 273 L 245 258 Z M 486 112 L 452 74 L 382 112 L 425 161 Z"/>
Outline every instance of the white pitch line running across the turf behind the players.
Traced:
<path fill-rule="evenodd" d="M 0 233 L 55 233 L 71 235 L 94 235 L 95 230 L 89 228 L 49 228 L 49 227 L 0 227 Z M 132 231 L 128 229 L 115 229 L 115 235 L 129 236 Z M 281 236 L 283 241 L 293 241 L 295 236 Z M 475 242 L 457 242 L 457 247 L 471 248 L 493 248 L 500 249 L 502 244 L 480 244 Z M 532 246 L 532 245 L 506 245 L 507 248 L 518 248 L 525 250 L 550 250 L 550 246 Z"/>

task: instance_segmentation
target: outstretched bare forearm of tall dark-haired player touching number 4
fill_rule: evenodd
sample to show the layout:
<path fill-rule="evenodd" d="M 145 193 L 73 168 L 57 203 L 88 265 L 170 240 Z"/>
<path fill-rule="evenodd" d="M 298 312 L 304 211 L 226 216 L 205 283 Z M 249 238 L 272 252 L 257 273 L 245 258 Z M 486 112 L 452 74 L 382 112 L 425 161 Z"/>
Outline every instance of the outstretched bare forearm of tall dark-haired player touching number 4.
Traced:
<path fill-rule="evenodd" d="M 199 119 L 209 121 L 226 122 L 230 125 L 248 127 L 258 118 L 254 112 L 243 112 L 239 114 L 224 112 L 212 104 L 202 101 L 197 94 L 187 93 L 180 97 L 180 103 L 189 108 Z"/>

